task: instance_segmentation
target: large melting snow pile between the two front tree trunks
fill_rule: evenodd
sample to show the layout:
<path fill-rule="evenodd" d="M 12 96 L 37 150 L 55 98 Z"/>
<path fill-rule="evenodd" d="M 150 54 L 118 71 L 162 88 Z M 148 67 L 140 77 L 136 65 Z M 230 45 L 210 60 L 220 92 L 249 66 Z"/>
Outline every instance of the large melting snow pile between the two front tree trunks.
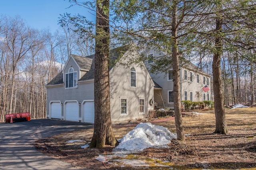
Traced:
<path fill-rule="evenodd" d="M 141 152 L 147 148 L 168 148 L 168 145 L 176 136 L 166 127 L 151 123 L 140 123 L 132 131 L 127 133 L 114 152 L 128 154 Z"/>

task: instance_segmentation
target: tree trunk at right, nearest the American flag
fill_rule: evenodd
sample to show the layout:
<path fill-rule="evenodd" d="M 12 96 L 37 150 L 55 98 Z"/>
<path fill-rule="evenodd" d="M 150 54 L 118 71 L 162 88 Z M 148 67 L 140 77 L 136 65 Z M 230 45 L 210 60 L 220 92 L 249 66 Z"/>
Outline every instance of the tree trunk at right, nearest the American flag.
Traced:
<path fill-rule="evenodd" d="M 221 5 L 217 4 L 216 13 L 216 32 L 215 32 L 215 48 L 213 55 L 212 63 L 212 72 L 213 72 L 213 91 L 214 91 L 214 111 L 216 118 L 216 129 L 214 133 L 227 134 L 228 128 L 226 124 L 225 110 L 223 104 L 222 96 L 222 85 L 221 85 L 221 70 L 220 70 L 220 60 L 222 55 L 222 14 L 221 14 Z"/>

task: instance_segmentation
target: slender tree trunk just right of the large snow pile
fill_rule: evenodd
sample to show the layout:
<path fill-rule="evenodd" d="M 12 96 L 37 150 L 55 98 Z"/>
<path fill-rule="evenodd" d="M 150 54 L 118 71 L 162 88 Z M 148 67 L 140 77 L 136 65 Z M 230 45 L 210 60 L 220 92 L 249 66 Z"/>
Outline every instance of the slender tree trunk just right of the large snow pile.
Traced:
<path fill-rule="evenodd" d="M 177 4 L 176 0 L 173 1 L 172 10 L 172 67 L 173 67 L 173 94 L 174 94 L 174 114 L 175 126 L 177 132 L 177 139 L 180 141 L 185 140 L 184 127 L 182 123 L 181 114 L 181 99 L 180 99 L 180 64 L 178 53 L 178 39 L 177 39 Z"/>

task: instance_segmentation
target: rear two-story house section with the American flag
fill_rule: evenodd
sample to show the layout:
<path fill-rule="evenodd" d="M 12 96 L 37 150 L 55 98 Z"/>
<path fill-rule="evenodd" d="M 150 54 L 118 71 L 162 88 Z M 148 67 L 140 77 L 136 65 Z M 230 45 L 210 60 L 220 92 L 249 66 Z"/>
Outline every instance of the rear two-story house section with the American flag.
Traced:
<path fill-rule="evenodd" d="M 145 52 L 148 60 L 145 62 L 146 67 L 150 70 L 154 59 L 166 56 L 165 53 L 150 49 Z M 174 108 L 174 93 L 172 81 L 172 66 L 166 72 L 151 73 L 154 80 L 154 101 L 157 108 Z M 190 100 L 200 102 L 212 100 L 210 75 L 199 69 L 196 65 L 186 62 L 180 65 L 180 96 L 181 100 Z"/>

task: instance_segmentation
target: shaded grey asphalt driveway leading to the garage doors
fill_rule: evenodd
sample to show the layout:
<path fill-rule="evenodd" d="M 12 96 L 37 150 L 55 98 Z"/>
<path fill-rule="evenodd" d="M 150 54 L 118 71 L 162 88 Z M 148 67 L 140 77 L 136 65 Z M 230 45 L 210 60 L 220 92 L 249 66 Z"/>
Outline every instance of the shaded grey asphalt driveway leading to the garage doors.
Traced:
<path fill-rule="evenodd" d="M 0 123 L 0 170 L 79 169 L 38 152 L 32 143 L 38 139 L 90 127 L 93 125 L 51 119 Z"/>

